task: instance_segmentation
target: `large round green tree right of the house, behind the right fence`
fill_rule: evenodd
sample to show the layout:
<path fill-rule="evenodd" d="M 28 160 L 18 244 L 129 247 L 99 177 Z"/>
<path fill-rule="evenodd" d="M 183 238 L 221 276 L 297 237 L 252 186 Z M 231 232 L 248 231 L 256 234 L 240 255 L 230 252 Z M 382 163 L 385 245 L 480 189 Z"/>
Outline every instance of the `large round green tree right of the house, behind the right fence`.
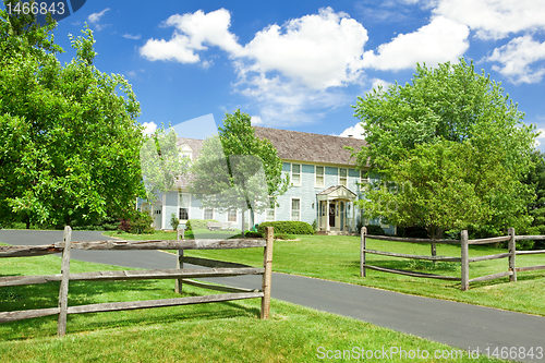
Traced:
<path fill-rule="evenodd" d="M 431 238 L 470 226 L 496 234 L 531 220 L 532 193 L 520 180 L 532 165 L 534 126 L 473 63 L 419 64 L 412 83 L 374 89 L 354 108 L 370 145 L 354 153 L 360 167 L 412 184 L 367 193 L 367 216 L 425 227 Z"/>

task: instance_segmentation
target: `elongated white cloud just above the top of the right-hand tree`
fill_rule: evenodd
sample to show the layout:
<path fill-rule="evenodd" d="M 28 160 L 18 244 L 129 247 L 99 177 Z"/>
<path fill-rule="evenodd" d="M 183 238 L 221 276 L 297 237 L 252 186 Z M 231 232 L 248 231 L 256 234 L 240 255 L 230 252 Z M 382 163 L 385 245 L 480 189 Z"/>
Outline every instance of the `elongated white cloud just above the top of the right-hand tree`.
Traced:
<path fill-rule="evenodd" d="M 416 32 L 400 34 L 390 43 L 365 52 L 365 66 L 383 71 L 413 68 L 415 63 L 436 65 L 446 61 L 458 61 L 469 48 L 468 26 L 436 16 Z"/>

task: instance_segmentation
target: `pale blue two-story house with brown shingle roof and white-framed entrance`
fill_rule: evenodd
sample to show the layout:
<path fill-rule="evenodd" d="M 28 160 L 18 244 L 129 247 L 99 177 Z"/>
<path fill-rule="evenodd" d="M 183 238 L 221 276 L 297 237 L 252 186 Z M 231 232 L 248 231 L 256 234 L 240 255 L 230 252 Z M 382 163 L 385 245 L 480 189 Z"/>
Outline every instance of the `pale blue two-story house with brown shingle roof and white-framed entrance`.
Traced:
<path fill-rule="evenodd" d="M 366 170 L 355 168 L 350 160 L 350 150 L 360 149 L 365 141 L 353 137 L 313 134 L 298 131 L 254 126 L 255 134 L 268 138 L 282 160 L 282 171 L 290 174 L 291 187 L 277 199 L 277 205 L 255 216 L 255 222 L 275 220 L 302 220 L 313 223 L 324 233 L 354 232 L 361 218 L 355 202 L 363 197 L 363 187 L 368 180 Z M 204 141 L 179 138 L 179 146 L 191 159 L 198 157 Z M 187 191 L 186 179 L 178 180 L 175 189 L 166 193 L 162 201 L 149 205 L 141 204 L 142 210 L 154 216 L 156 229 L 170 229 L 169 220 L 174 213 L 180 220 L 216 219 L 231 222 L 241 228 L 241 211 L 220 213 L 203 208 L 198 195 Z M 246 219 L 247 220 L 247 219 Z M 371 220 L 378 225 L 379 220 Z M 395 227 L 382 225 L 387 233 L 395 233 Z"/>

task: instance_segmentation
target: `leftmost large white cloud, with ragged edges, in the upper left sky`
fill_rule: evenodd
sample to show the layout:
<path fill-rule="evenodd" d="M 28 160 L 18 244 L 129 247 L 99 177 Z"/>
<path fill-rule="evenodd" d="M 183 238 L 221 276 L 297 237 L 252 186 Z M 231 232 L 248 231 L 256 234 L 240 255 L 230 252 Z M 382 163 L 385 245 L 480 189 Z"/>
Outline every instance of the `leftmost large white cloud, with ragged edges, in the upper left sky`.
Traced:
<path fill-rule="evenodd" d="M 148 60 L 172 60 L 180 63 L 197 63 L 198 51 L 208 49 L 205 45 L 217 46 L 228 52 L 240 52 L 242 47 L 229 32 L 231 14 L 219 9 L 205 14 L 202 10 L 193 14 L 175 14 L 162 26 L 174 26 L 177 31 L 170 40 L 148 39 L 140 49 Z M 206 68 L 206 64 L 204 65 Z"/>

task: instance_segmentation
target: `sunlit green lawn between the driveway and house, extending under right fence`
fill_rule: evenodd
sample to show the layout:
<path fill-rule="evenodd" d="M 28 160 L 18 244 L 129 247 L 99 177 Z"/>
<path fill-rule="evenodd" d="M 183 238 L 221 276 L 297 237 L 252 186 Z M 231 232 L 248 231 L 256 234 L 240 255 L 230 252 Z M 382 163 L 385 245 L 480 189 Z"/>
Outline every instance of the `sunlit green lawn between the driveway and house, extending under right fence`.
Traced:
<path fill-rule="evenodd" d="M 129 239 L 130 235 L 124 234 L 123 238 Z M 508 278 L 502 278 L 472 283 L 469 291 L 460 291 L 460 282 L 413 278 L 370 269 L 367 269 L 367 277 L 361 278 L 359 237 L 300 235 L 299 238 L 300 241 L 275 241 L 272 270 L 545 316 L 545 300 L 543 299 L 545 270 L 519 273 L 517 282 L 508 282 Z M 370 240 L 367 247 L 405 254 L 429 254 L 428 244 Z M 262 251 L 262 249 L 208 250 L 186 251 L 186 254 L 261 266 L 263 264 Z M 470 257 L 502 252 L 506 250 L 486 245 L 470 246 Z M 460 246 L 438 244 L 437 255 L 460 256 Z M 428 262 L 371 254 L 367 254 L 367 262 L 383 267 L 460 276 L 459 263 L 437 263 L 434 266 Z M 517 256 L 517 266 L 533 265 L 545 265 L 545 255 Z M 507 271 L 507 258 L 471 263 L 470 278 Z"/>

